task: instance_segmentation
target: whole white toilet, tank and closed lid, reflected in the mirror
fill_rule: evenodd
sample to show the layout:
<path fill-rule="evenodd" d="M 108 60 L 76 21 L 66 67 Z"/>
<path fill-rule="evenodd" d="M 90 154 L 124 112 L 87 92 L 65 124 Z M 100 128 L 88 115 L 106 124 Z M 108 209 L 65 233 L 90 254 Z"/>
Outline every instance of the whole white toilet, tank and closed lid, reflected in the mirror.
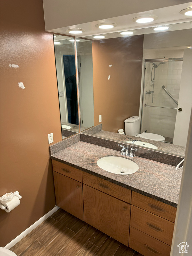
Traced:
<path fill-rule="evenodd" d="M 165 138 L 159 134 L 149 132 L 142 132 L 139 134 L 140 122 L 141 118 L 139 116 L 132 116 L 127 118 L 125 120 L 125 134 L 143 139 L 165 142 Z"/>

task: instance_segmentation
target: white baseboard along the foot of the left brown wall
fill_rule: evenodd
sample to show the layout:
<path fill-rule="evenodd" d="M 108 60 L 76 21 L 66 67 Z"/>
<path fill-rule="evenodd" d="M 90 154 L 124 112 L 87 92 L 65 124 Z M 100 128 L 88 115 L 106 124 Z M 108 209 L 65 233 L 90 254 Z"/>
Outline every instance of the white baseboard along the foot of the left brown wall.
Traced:
<path fill-rule="evenodd" d="M 54 212 L 56 212 L 60 207 L 55 206 L 51 211 L 46 213 L 43 217 L 41 217 L 39 220 L 37 220 L 33 225 L 28 227 L 26 230 L 24 230 L 20 235 L 18 235 L 15 239 L 13 239 L 10 243 L 8 243 L 4 248 L 10 249 L 13 247 L 16 243 L 18 243 L 23 237 L 28 235 L 33 229 L 35 229 L 37 226 L 39 226 L 44 220 L 46 220 L 49 216 L 51 216 Z"/>

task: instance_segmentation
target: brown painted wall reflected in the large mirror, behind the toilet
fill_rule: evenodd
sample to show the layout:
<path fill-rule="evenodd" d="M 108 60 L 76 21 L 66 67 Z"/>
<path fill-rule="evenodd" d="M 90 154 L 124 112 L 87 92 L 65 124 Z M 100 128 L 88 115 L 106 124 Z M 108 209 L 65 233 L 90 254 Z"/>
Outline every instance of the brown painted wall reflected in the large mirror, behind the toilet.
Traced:
<path fill-rule="evenodd" d="M 102 115 L 103 130 L 117 132 L 139 115 L 142 55 L 143 35 L 93 41 L 94 125 Z"/>

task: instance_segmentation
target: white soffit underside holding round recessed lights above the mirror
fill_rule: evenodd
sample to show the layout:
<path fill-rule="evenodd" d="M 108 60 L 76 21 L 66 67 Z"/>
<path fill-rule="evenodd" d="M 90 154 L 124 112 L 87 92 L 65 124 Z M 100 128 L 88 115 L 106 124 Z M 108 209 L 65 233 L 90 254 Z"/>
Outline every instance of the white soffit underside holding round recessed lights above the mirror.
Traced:
<path fill-rule="evenodd" d="M 135 30 L 134 35 L 156 33 L 154 30 L 150 28 L 159 26 L 159 25 L 169 25 L 169 24 L 172 25 L 170 26 L 169 31 L 189 29 L 189 28 L 192 28 L 192 24 L 190 23 L 192 21 L 192 16 L 191 17 L 185 16 L 183 14 L 180 14 L 179 12 L 191 6 L 192 6 L 192 2 L 184 3 L 184 4 L 164 7 L 160 9 L 114 17 L 110 19 L 97 20 L 94 22 L 88 22 L 84 24 L 52 29 L 49 31 L 53 33 L 60 33 L 60 34 L 67 35 L 69 34 L 66 32 L 67 29 L 78 28 L 78 29 L 85 30 L 83 33 L 81 33 L 80 35 L 81 37 L 87 37 L 87 38 L 93 39 L 92 35 L 101 35 L 101 34 L 102 35 L 104 34 L 106 38 L 119 37 L 121 36 L 119 35 L 120 33 L 116 33 L 116 32 L 126 31 L 126 30 Z M 158 18 L 153 22 L 150 22 L 147 24 L 139 24 L 132 21 L 132 19 L 135 17 L 147 16 L 147 15 L 154 15 L 154 16 L 157 16 Z M 117 24 L 117 26 L 112 29 L 99 29 L 95 27 L 95 25 L 100 23 L 115 23 Z M 111 33 L 111 35 L 107 35 L 108 33 Z"/>

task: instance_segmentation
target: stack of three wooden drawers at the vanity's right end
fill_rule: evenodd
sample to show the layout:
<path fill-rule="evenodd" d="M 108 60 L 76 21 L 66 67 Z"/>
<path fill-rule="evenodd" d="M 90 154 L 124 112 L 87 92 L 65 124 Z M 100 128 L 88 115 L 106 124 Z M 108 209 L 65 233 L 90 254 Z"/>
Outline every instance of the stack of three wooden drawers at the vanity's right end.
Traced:
<path fill-rule="evenodd" d="M 176 208 L 135 192 L 131 204 L 129 247 L 144 256 L 169 256 Z"/>

